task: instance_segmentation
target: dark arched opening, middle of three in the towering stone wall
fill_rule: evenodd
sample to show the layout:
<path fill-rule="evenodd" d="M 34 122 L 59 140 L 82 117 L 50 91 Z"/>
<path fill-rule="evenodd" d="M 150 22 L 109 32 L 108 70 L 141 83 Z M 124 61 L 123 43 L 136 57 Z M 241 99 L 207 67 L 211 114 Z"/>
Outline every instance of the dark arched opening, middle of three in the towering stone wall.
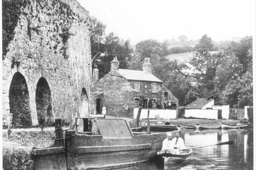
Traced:
<path fill-rule="evenodd" d="M 36 113 L 39 126 L 51 126 L 54 123 L 51 90 L 47 80 L 41 77 L 35 90 Z"/>

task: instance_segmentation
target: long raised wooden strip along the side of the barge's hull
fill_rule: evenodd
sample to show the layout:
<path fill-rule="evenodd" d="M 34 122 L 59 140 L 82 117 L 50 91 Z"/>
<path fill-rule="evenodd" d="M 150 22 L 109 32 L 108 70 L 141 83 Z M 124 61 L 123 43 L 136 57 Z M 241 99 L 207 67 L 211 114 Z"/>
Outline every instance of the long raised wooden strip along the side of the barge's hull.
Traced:
<path fill-rule="evenodd" d="M 131 151 L 131 150 L 144 150 L 150 149 L 151 143 L 139 145 L 112 145 L 112 146 L 90 146 L 78 147 L 77 153 L 97 153 L 97 152 L 116 152 L 116 151 Z"/>

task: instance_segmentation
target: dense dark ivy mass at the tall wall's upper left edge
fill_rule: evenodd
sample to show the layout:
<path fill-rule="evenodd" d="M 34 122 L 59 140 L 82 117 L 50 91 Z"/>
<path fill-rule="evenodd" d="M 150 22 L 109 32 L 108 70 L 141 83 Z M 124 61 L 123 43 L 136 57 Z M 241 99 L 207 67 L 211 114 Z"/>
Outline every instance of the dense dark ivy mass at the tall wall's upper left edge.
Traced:
<path fill-rule="evenodd" d="M 2 60 L 4 60 L 8 46 L 15 35 L 15 28 L 21 14 L 21 7 L 25 0 L 2 0 Z"/>

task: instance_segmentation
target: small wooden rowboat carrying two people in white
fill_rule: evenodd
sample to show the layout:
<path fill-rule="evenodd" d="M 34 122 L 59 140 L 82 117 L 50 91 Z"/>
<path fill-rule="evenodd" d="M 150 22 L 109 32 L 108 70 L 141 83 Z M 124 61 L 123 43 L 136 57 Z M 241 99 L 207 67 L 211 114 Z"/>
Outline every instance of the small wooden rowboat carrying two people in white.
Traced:
<path fill-rule="evenodd" d="M 172 154 L 171 152 L 161 150 L 157 153 L 157 155 L 164 158 L 164 164 L 183 162 L 188 160 L 193 152 L 193 150 L 189 149 L 190 147 L 187 145 L 185 145 L 185 147 L 187 147 L 188 150 L 183 150 L 183 153 L 181 154 Z"/>

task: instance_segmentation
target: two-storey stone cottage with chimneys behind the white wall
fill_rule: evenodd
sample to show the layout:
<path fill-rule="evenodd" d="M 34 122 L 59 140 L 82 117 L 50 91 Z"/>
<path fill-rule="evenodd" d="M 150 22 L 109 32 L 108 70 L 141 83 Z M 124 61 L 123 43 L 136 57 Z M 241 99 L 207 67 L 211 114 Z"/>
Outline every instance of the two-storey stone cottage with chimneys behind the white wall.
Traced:
<path fill-rule="evenodd" d="M 94 98 L 96 112 L 101 114 L 102 106 L 107 115 L 133 116 L 133 109 L 139 106 L 143 97 L 143 108 L 175 109 L 178 115 L 178 99 L 168 90 L 163 82 L 152 73 L 149 58 L 145 58 L 142 71 L 119 69 L 119 61 L 114 57 L 111 70 L 98 80 L 98 69 L 93 70 Z"/>

